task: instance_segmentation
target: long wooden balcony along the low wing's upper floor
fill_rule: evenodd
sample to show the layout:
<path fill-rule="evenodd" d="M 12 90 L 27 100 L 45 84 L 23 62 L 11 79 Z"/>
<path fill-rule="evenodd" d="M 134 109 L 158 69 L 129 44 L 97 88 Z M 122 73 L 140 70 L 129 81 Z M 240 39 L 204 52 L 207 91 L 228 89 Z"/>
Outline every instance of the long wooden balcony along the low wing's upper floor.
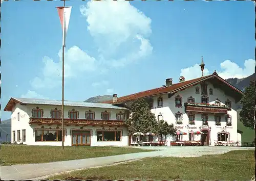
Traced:
<path fill-rule="evenodd" d="M 61 124 L 57 118 L 29 118 L 29 124 Z M 64 119 L 65 125 L 124 125 L 124 121 L 118 120 L 88 120 L 88 119 Z"/>

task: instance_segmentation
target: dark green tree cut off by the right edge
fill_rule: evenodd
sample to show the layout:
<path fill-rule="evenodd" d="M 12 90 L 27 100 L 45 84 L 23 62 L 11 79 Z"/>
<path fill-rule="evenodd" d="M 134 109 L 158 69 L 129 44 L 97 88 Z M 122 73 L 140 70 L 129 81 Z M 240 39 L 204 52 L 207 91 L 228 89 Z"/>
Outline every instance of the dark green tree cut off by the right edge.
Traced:
<path fill-rule="evenodd" d="M 242 110 L 239 114 L 240 121 L 243 122 L 245 127 L 254 128 L 254 111 L 255 111 L 255 85 L 253 82 L 245 88 L 244 95 L 240 100 Z"/>

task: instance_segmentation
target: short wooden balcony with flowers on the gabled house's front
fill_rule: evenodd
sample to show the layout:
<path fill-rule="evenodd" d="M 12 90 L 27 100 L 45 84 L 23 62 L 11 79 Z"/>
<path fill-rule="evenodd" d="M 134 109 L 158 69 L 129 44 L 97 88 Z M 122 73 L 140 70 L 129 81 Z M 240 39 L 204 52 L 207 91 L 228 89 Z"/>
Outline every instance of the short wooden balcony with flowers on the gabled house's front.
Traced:
<path fill-rule="evenodd" d="M 227 114 L 229 107 L 226 105 L 219 106 L 215 104 L 203 104 L 203 103 L 185 103 L 185 112 L 197 112 L 197 113 L 218 113 Z"/>

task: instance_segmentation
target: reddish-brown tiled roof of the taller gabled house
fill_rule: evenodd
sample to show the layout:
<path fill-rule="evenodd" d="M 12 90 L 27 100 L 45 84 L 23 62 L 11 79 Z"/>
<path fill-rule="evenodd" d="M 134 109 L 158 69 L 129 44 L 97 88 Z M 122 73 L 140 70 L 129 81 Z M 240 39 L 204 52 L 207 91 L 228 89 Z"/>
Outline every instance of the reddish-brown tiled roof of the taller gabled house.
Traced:
<path fill-rule="evenodd" d="M 173 84 L 172 86 L 159 87 L 159 88 L 155 88 L 155 89 L 151 89 L 151 90 L 138 92 L 138 93 L 135 93 L 135 94 L 130 94 L 130 95 L 118 97 L 117 101 L 114 104 L 120 104 L 120 103 L 123 103 L 123 102 L 126 102 L 126 101 L 131 101 L 131 100 L 135 100 L 135 99 L 143 98 L 143 97 L 155 96 L 155 95 L 164 94 L 164 93 L 168 93 L 168 92 L 169 93 L 174 93 L 174 92 L 176 92 L 180 89 L 186 88 L 187 86 L 194 85 L 194 84 L 197 84 L 201 81 L 207 80 L 210 77 L 217 77 L 220 81 L 226 83 L 228 86 L 231 86 L 233 89 L 235 89 L 236 91 L 238 91 L 239 93 L 242 94 L 242 91 L 240 91 L 239 89 L 237 89 L 237 88 L 233 87 L 232 85 L 230 85 L 229 83 L 227 83 L 220 76 L 218 76 L 217 73 L 213 73 L 211 75 L 202 76 L 202 77 L 199 77 L 197 79 L 192 79 L 192 80 L 180 82 L 180 83 L 177 83 L 177 84 Z M 113 100 L 105 101 L 105 102 L 102 102 L 102 103 L 113 104 Z"/>

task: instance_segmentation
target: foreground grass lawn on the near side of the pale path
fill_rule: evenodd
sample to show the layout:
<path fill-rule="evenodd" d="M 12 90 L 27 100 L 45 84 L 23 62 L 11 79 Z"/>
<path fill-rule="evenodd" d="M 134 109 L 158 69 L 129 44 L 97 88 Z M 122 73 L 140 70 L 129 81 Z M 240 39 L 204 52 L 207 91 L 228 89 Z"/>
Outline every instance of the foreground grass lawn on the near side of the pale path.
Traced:
<path fill-rule="evenodd" d="M 254 150 L 198 158 L 146 158 L 115 166 L 78 170 L 48 179 L 248 180 L 254 174 Z"/>

